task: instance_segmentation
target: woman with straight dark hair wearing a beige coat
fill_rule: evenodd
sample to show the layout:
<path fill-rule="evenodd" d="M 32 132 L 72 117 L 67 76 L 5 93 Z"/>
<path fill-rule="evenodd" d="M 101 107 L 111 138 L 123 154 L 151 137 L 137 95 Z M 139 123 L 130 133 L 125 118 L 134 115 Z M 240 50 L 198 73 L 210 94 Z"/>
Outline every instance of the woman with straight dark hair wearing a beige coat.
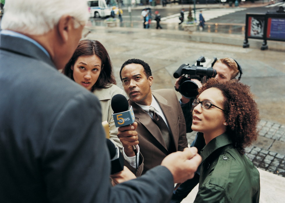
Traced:
<path fill-rule="evenodd" d="M 102 121 L 109 123 L 110 139 L 122 151 L 112 116 L 111 99 L 116 94 L 128 97 L 116 85 L 112 63 L 105 47 L 96 40 L 80 41 L 63 73 L 97 96 L 102 108 Z"/>

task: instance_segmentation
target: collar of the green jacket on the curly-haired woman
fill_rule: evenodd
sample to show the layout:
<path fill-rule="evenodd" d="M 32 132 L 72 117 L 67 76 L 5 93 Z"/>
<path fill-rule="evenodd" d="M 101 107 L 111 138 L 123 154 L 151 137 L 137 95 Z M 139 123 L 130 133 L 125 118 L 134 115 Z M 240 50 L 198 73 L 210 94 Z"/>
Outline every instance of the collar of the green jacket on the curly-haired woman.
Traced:
<path fill-rule="evenodd" d="M 201 150 L 202 161 L 209 157 L 218 148 L 224 147 L 232 143 L 233 141 L 231 141 L 227 133 L 223 133 L 215 137 Z"/>

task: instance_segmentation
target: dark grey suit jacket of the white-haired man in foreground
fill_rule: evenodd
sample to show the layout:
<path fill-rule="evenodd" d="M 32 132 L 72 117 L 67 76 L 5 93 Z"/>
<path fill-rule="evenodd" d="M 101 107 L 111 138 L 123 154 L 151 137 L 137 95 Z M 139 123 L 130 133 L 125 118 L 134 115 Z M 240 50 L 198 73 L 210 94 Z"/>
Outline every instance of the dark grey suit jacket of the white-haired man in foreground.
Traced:
<path fill-rule="evenodd" d="M 170 200 L 163 166 L 112 187 L 97 98 L 35 44 L 0 37 L 0 202 Z"/>

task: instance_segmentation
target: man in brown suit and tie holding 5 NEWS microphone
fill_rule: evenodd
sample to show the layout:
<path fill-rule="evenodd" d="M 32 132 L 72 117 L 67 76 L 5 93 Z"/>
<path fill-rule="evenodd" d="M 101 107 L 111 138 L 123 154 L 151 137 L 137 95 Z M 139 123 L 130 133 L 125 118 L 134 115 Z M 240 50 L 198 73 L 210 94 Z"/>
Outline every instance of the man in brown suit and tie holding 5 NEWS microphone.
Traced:
<path fill-rule="evenodd" d="M 168 154 L 183 151 L 187 147 L 186 124 L 180 103 L 175 92 L 171 89 L 151 90 L 153 77 L 147 63 L 139 59 L 126 61 L 120 70 L 120 78 L 127 95 L 129 105 L 133 107 L 135 123 L 119 127 L 118 137 L 123 144 L 124 154 L 129 159 L 125 165 L 133 172 L 135 158 L 133 145 L 138 145 L 137 150 L 144 158 L 143 172 L 161 164 Z M 167 125 L 169 131 L 165 138 L 161 128 L 154 122 L 150 107 Z M 125 156 L 126 157 L 126 156 Z M 141 161 L 141 160 L 140 160 Z M 133 164 L 129 164 L 129 163 Z M 139 172 L 137 176 L 139 176 Z"/>

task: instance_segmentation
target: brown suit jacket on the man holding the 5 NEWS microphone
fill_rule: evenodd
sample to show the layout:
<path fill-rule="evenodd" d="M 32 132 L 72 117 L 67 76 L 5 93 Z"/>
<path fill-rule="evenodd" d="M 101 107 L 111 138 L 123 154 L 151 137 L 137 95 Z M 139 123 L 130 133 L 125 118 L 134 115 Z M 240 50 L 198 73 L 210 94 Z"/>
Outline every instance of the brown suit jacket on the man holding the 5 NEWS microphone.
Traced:
<path fill-rule="evenodd" d="M 186 125 L 180 103 L 175 92 L 171 89 L 158 89 L 152 91 L 152 95 L 158 101 L 163 114 L 171 130 L 176 151 L 183 151 L 187 147 Z M 136 131 L 140 152 L 144 157 L 144 168 L 142 174 L 147 170 L 160 165 L 162 160 L 169 154 L 161 131 L 152 118 L 136 103 L 129 100 L 133 106 L 135 121 L 138 123 Z M 132 168 L 130 165 L 126 165 Z M 137 173 L 138 175 L 138 173 Z"/>

